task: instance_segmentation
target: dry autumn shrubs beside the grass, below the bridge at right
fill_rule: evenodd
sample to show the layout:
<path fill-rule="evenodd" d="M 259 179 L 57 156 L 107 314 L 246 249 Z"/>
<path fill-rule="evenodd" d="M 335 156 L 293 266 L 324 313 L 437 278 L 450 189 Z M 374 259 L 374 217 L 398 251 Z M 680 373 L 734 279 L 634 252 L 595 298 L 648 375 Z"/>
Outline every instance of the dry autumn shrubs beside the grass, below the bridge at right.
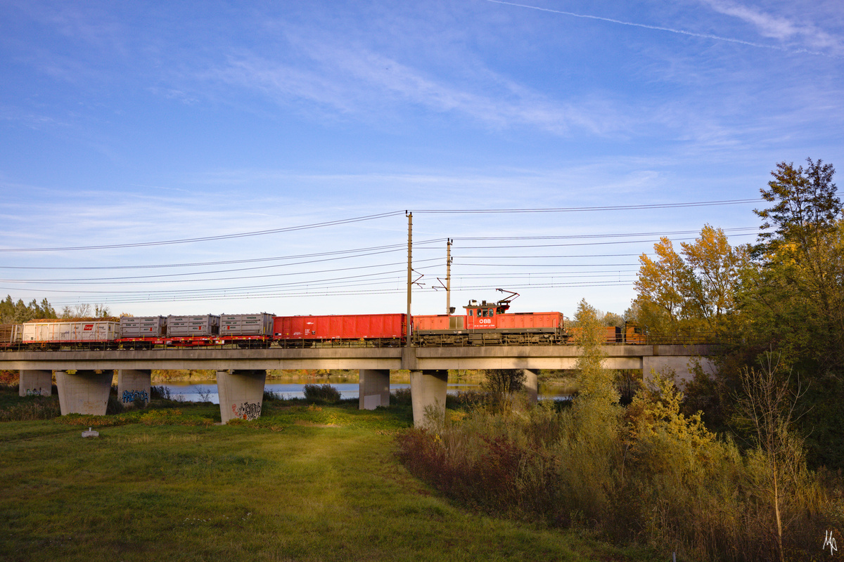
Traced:
<path fill-rule="evenodd" d="M 403 432 L 398 454 L 443 494 L 493 514 L 585 525 L 683 559 L 776 559 L 758 453 L 683 415 L 682 398 L 657 375 L 624 417 L 549 401 L 507 415 L 477 408 Z M 825 499 L 809 471 L 802 478 L 783 511 L 787 559 L 811 559 L 824 530 L 844 522 L 841 500 Z"/>

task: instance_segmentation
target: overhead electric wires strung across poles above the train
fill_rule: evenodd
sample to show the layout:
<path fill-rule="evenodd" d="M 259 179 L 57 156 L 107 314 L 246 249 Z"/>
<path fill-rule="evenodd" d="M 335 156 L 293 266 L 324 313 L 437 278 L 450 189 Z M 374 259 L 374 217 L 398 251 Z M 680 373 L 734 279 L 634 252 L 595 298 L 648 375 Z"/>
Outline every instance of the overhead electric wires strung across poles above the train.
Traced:
<path fill-rule="evenodd" d="M 535 209 L 463 209 L 463 210 L 421 210 L 421 211 L 414 211 L 417 213 L 427 213 L 427 214 L 454 214 L 454 213 L 468 213 L 468 214 L 476 214 L 476 213 L 536 213 L 536 212 L 572 212 L 572 211 L 618 211 L 618 210 L 641 210 L 641 209 L 664 209 L 664 208 L 679 208 L 679 207 L 695 207 L 695 206 L 720 206 L 720 205 L 733 205 L 733 204 L 742 204 L 742 203 L 749 203 L 749 202 L 758 202 L 759 200 L 747 199 L 747 200 L 728 200 L 728 201 L 696 201 L 691 203 L 669 203 L 669 204 L 644 204 L 644 205 L 633 205 L 633 206 L 594 206 L 594 207 L 568 207 L 568 208 L 535 208 Z M 226 235 L 219 235 L 219 236 L 209 236 L 209 237 L 198 237 L 198 238 L 181 238 L 181 239 L 173 239 L 173 240 L 160 240 L 154 242 L 145 242 L 145 243 L 132 243 L 132 244 L 111 244 L 111 245 L 97 245 L 97 246 L 78 246 L 78 247 L 64 247 L 64 248 L 35 248 L 35 249 L 0 249 L 0 252 L 25 252 L 25 251 L 62 251 L 62 250 L 82 250 L 82 249 L 120 249 L 120 248 L 138 248 L 143 246 L 159 246 L 165 244 L 187 244 L 193 242 L 205 242 L 205 241 L 213 241 L 213 240 L 221 240 L 221 239 L 228 239 L 228 238 L 243 238 L 243 237 L 250 237 L 250 236 L 261 236 L 266 234 L 273 234 L 273 233 L 286 233 L 286 232 L 294 232 L 297 230 L 305 230 L 310 228 L 319 228 L 319 227 L 329 227 L 329 226 L 336 226 L 342 224 L 348 224 L 352 222 L 361 222 L 361 221 L 369 221 L 374 220 L 382 217 L 393 217 L 403 214 L 403 211 L 392 211 L 387 213 L 380 213 L 375 215 L 369 215 L 365 217 L 353 217 L 350 219 L 342 219 L 338 221 L 327 221 L 327 222 L 318 222 L 312 223 L 307 225 L 300 225 L 297 227 L 283 227 L 283 228 L 276 228 L 276 229 L 268 229 L 262 231 L 253 231 L 248 233 L 233 233 L 233 234 L 226 234 Z M 744 231 L 749 230 L 756 230 L 757 227 L 738 227 L 738 228 L 728 228 L 723 229 L 725 232 L 733 233 L 732 236 L 747 236 L 751 233 L 744 233 Z M 697 231 L 674 231 L 668 233 L 607 233 L 607 234 L 576 234 L 576 235 L 565 235 L 565 236 L 511 236 L 511 237 L 454 237 L 452 240 L 460 240 L 460 241 L 528 241 L 528 240 L 584 240 L 584 239 L 598 239 L 598 238 L 633 238 L 633 237 L 643 237 L 643 236 L 668 236 L 668 235 L 677 235 L 677 234 L 690 234 L 690 233 L 697 233 Z M 680 240 L 685 239 L 693 239 L 693 238 L 679 238 Z M 414 249 L 434 249 L 430 247 L 430 244 L 440 243 L 446 240 L 446 238 L 432 238 L 429 240 L 419 241 L 413 244 Z M 677 238 L 675 238 L 677 240 Z M 499 245 L 472 245 L 472 246 L 461 246 L 462 249 L 527 249 L 527 248 L 557 248 L 557 247 L 565 247 L 565 246 L 588 246 L 588 245 L 606 245 L 606 244 L 649 244 L 652 242 L 657 242 L 657 240 L 652 239 L 636 239 L 636 240 L 606 240 L 603 242 L 582 242 L 582 243 L 566 243 L 566 244 L 499 244 Z M 427 247 L 426 247 L 427 246 Z M 16 283 L 16 284 L 41 284 L 41 285 L 48 285 L 48 284 L 57 284 L 57 283 L 88 283 L 88 284 L 109 284 L 109 285 L 117 285 L 117 284 L 124 284 L 124 285 L 139 285 L 139 284 L 160 284 L 163 282 L 172 283 L 172 282 L 190 282 L 190 281 L 202 281 L 202 282 L 211 282 L 211 281 L 241 281 L 241 280 L 248 280 L 248 279 L 262 279 L 268 277 L 281 277 L 281 276 L 309 276 L 309 275 L 322 275 L 325 273 L 338 273 L 342 271 L 348 270 L 360 270 L 360 269 L 368 269 L 373 267 L 390 267 L 395 265 L 402 265 L 402 263 L 389 263 L 389 264 L 377 264 L 377 265 L 360 265 L 355 267 L 349 268 L 333 268 L 327 270 L 309 270 L 309 271 L 296 271 L 296 272 L 288 272 L 288 273 L 275 273 L 275 274 L 268 274 L 268 275 L 259 275 L 259 276 L 235 276 L 235 277 L 212 277 L 212 278 L 202 278 L 202 279 L 195 279 L 196 276 L 207 276 L 207 275 L 216 275 L 220 273 L 237 273 L 243 272 L 248 270 L 265 270 L 270 268 L 277 268 L 277 267 L 285 267 L 285 266 L 293 266 L 293 265 L 306 265 L 312 263 L 319 263 L 325 261 L 332 261 L 332 260 L 345 260 L 345 259 L 358 259 L 358 258 L 365 258 L 376 254 L 387 254 L 395 251 L 399 251 L 407 247 L 407 244 L 387 244 L 382 246 L 373 246 L 370 248 L 363 248 L 363 249 L 347 249 L 347 250 L 333 250 L 331 252 L 320 252 L 320 253 L 311 253 L 311 254 L 299 254 L 299 255 L 292 255 L 292 256 L 275 256 L 275 257 L 263 257 L 263 258 L 254 258 L 254 259 L 247 259 L 247 260 L 221 260 L 221 261 L 206 261 L 206 262 L 196 262 L 196 263 L 188 263 L 188 264 L 152 264 L 152 265 L 107 265 L 107 266 L 76 266 L 76 267 L 25 267 L 25 266 L 0 266 L 0 269 L 29 269 L 29 270 L 128 270 L 128 269 L 152 269 L 152 268 L 181 268 L 181 267 L 202 267 L 208 265 L 235 265 L 235 264 L 252 264 L 252 263 L 266 263 L 268 261 L 282 261 L 282 260 L 304 260 L 299 262 L 289 262 L 289 263 L 280 263 L 280 264 L 273 264 L 273 265 L 255 265 L 250 267 L 242 267 L 242 268 L 230 268 L 225 270 L 210 270 L 210 271 L 199 271 L 199 272 L 187 272 L 187 273 L 174 273 L 174 274 L 164 274 L 164 275 L 154 275 L 154 276 L 115 276 L 115 277 L 100 277 L 100 278 L 74 278 L 74 279 L 52 279 L 52 280 L 19 280 L 19 279 L 12 279 L 12 280 L 0 280 L 7 283 Z M 646 253 L 647 254 L 647 253 Z M 490 263 L 473 263 L 473 262 L 463 262 L 461 260 L 484 260 L 488 259 L 488 257 L 494 257 L 497 260 L 526 260 L 526 259 L 541 259 L 541 260 L 548 260 L 548 259 L 571 259 L 571 258 L 597 258 L 597 257 L 631 257 L 634 255 L 641 255 L 641 254 L 560 254 L 560 255 L 499 255 L 495 254 L 492 256 L 473 256 L 473 255 L 457 255 L 454 256 L 452 259 L 457 260 L 457 263 L 460 265 L 467 265 L 470 267 L 491 267 L 491 266 L 498 266 L 504 268 L 522 268 L 522 267 L 534 267 L 534 268 L 562 268 L 562 267 L 630 267 L 636 266 L 638 264 L 490 264 Z M 332 257 L 328 257 L 332 256 Z M 311 258 L 315 258 L 311 260 Z M 316 259 L 320 258 L 320 259 Z M 432 258 L 430 260 L 415 260 L 414 263 L 424 264 L 426 262 L 432 262 L 440 260 L 439 258 Z M 419 269 L 428 270 L 432 266 L 430 265 L 423 265 L 420 266 Z M 50 292 L 65 292 L 65 293 L 73 293 L 73 294 L 91 294 L 91 295 L 100 295 L 106 297 L 106 295 L 111 296 L 110 298 L 116 298 L 118 296 L 122 296 L 124 298 L 138 298 L 141 300 L 135 302 L 156 302 L 156 301 L 149 301 L 149 297 L 155 295 L 155 298 L 162 299 L 162 302 L 165 300 L 173 300 L 176 298 L 186 298 L 189 300 L 198 300 L 202 298 L 210 299 L 210 298 L 238 298 L 238 295 L 246 294 L 254 294 L 257 291 L 266 292 L 268 290 L 272 290 L 273 288 L 280 289 L 281 286 L 286 286 L 289 289 L 293 289 L 294 287 L 316 287 L 317 285 L 322 284 L 321 289 L 316 289 L 317 291 L 322 291 L 320 294 L 332 294 L 332 295 L 341 295 L 347 294 L 345 292 L 331 292 L 331 289 L 328 289 L 327 286 L 331 285 L 338 285 L 338 284 L 346 284 L 346 286 L 373 286 L 376 284 L 390 284 L 392 282 L 398 282 L 395 279 L 389 279 L 383 277 L 385 275 L 392 275 L 394 273 L 399 273 L 402 270 L 394 270 L 389 272 L 378 272 L 371 274 L 371 276 L 381 276 L 378 279 L 371 279 L 366 281 L 365 283 L 356 283 L 354 281 L 350 281 L 352 278 L 356 276 L 343 276 L 334 278 L 333 280 L 311 280 L 311 281 L 295 281 L 286 284 L 269 284 L 269 285 L 254 285 L 254 286 L 239 286 L 239 287 L 228 287 L 225 289 L 221 288 L 213 288 L 213 289 L 186 289 L 182 290 L 153 290 L 153 291 L 138 291 L 138 292 L 127 292 L 127 291 L 116 291 L 116 292 L 106 292 L 106 291 L 68 291 L 68 290 L 49 290 Z M 602 270 L 592 270 L 592 272 L 599 272 Z M 612 273 L 615 277 L 615 274 L 620 274 L 618 270 L 603 270 Z M 548 273 L 548 272 L 544 272 Z M 582 272 L 582 274 L 587 274 L 590 272 Z M 367 274 L 370 275 L 370 274 Z M 505 274 L 495 274 L 496 276 L 534 276 L 534 278 L 539 278 L 541 274 L 536 272 L 521 272 L 521 273 L 505 273 Z M 174 279 L 174 277 L 186 277 L 192 276 L 192 279 Z M 484 274 L 477 274 L 477 276 L 485 276 Z M 552 278 L 559 277 L 565 278 L 566 274 L 564 273 L 556 273 L 550 272 L 549 275 Z M 467 276 L 468 277 L 468 276 Z M 580 278 L 588 277 L 588 275 L 580 275 Z M 577 278 L 577 277 L 574 277 Z M 453 279 L 453 277 L 452 277 Z M 147 281 L 140 281 L 140 280 L 147 280 Z M 156 280 L 156 281 L 152 281 Z M 571 285 L 571 282 L 576 283 L 586 283 L 587 285 Z M 552 279 L 552 283 L 547 286 L 591 286 L 589 284 L 592 283 L 613 283 L 614 285 L 627 284 L 630 283 L 626 282 L 622 283 L 620 281 L 571 281 L 571 282 L 555 282 Z M 533 283 L 529 283 L 530 286 L 534 287 L 542 287 L 545 285 L 536 285 Z M 19 290 L 19 289 L 18 289 Z M 30 288 L 30 290 L 35 290 L 39 292 L 45 292 L 47 289 L 36 289 Z M 390 292 L 403 292 L 405 288 L 397 288 L 395 290 L 384 290 L 385 293 L 379 294 L 387 294 Z M 414 288 L 414 292 L 418 291 L 427 291 L 430 289 L 418 289 Z M 467 291 L 468 288 L 452 288 L 452 291 Z M 308 291 L 305 293 L 301 293 L 302 289 L 296 289 L 296 292 L 300 294 L 307 294 L 313 295 L 315 294 L 312 291 Z M 379 290 L 380 291 L 380 290 Z M 221 297 L 221 292 L 223 296 Z M 354 294 L 367 294 L 364 292 L 354 293 Z M 145 295 L 146 298 L 143 298 L 142 295 Z M 292 295 L 292 293 L 291 293 Z M 276 294 L 275 296 L 279 296 Z M 285 294 L 284 296 L 287 296 Z M 130 301 L 121 301 L 121 302 L 130 302 Z"/>

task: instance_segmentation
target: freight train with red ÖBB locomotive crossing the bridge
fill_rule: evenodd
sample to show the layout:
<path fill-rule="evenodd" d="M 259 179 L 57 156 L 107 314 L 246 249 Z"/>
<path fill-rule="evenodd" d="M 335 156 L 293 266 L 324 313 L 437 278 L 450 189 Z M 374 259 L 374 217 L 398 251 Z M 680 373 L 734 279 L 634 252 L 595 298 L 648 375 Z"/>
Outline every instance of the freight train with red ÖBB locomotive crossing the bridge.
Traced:
<path fill-rule="evenodd" d="M 499 289 L 499 291 L 501 291 Z M 562 313 L 507 313 L 518 294 L 496 302 L 469 301 L 461 314 L 415 315 L 414 345 L 557 345 L 576 342 Z M 452 309 L 453 310 L 453 309 Z M 163 347 L 389 347 L 407 342 L 407 315 L 275 316 L 203 314 L 30 320 L 0 326 L 5 349 L 153 349 Z M 610 326 L 607 343 L 644 343 L 636 326 Z"/>

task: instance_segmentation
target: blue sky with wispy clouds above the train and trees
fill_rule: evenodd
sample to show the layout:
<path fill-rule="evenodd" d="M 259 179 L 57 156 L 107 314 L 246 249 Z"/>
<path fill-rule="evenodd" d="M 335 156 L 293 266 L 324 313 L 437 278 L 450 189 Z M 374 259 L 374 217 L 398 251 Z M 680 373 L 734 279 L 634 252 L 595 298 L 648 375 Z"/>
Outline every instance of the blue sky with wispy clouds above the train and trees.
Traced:
<path fill-rule="evenodd" d="M 665 205 L 844 166 L 842 62 L 839 0 L 0 2 L 0 293 L 403 312 L 410 210 L 415 313 L 446 238 L 452 306 L 623 313 L 660 234 L 750 242 L 762 202 Z M 422 212 L 495 209 L 568 211 Z"/>

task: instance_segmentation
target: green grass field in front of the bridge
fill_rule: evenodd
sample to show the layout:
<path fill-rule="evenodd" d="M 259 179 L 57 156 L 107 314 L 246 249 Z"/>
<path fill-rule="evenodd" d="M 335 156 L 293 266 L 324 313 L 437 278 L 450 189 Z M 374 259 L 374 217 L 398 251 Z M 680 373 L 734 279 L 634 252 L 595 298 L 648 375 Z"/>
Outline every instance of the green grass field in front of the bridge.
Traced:
<path fill-rule="evenodd" d="M 168 405 L 0 423 L 0 559 L 648 559 L 450 504 L 395 458 L 409 407 Z"/>

